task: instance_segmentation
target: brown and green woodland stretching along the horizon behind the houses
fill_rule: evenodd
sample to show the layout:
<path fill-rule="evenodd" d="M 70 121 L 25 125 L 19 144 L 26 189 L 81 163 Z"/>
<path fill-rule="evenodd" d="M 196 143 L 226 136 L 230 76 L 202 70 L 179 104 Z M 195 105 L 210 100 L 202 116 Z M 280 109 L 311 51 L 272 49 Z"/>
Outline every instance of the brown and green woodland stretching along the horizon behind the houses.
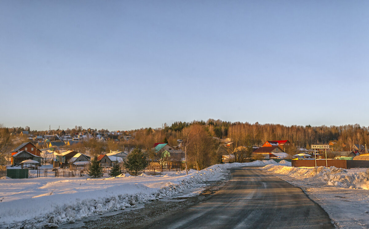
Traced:
<path fill-rule="evenodd" d="M 27 127 L 28 129 L 29 127 Z M 19 144 L 29 141 L 21 134 L 10 135 L 19 128 L 7 128 L 0 126 L 0 154 L 7 155 Z M 91 128 L 87 128 L 91 130 Z M 82 131 L 81 126 L 69 131 L 71 133 Z M 53 130 L 51 132 L 57 132 Z M 97 130 L 96 130 L 97 131 Z M 108 133 L 107 129 L 100 131 Z M 41 134 L 45 131 L 31 131 L 32 134 Z M 99 131 L 97 131 L 99 132 Z M 134 140 L 125 141 L 123 136 L 131 135 Z M 252 146 L 260 147 L 265 141 L 289 140 L 293 146 L 285 151 L 294 155 L 297 148 L 310 148 L 311 144 L 328 144 L 333 141 L 335 151 L 352 151 L 354 144 L 369 144 L 369 128 L 359 124 L 341 126 L 284 126 L 281 124 L 250 124 L 248 122 L 227 122 L 220 119 L 208 119 L 207 121 L 174 122 L 170 126 L 164 124 L 163 128 L 141 128 L 130 131 L 121 131 L 109 134 L 110 140 L 98 142 L 95 139 L 83 141 L 73 146 L 78 152 L 89 152 L 97 155 L 112 151 L 124 151 L 138 147 L 150 150 L 155 143 L 165 142 L 172 146 L 178 144 L 177 139 L 182 140 L 182 149 L 187 153 L 189 165 L 192 168 L 202 169 L 209 165 L 222 162 L 222 155 L 234 155 L 235 162 L 245 162 L 250 158 Z M 224 145 L 224 139 L 230 139 L 231 145 Z M 115 142 L 112 139 L 120 141 Z M 222 140 L 223 139 L 223 140 Z M 154 155 L 155 156 L 155 155 Z M 157 157 L 157 155 L 156 155 Z M 0 162 L 1 163 L 1 162 Z"/>

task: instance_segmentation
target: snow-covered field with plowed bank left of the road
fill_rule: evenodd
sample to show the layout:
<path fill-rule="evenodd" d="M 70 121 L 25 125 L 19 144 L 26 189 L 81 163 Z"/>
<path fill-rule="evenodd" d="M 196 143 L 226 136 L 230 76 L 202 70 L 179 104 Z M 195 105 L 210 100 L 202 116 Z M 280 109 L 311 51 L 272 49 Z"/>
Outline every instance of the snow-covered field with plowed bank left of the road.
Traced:
<path fill-rule="evenodd" d="M 207 180 L 220 180 L 227 168 L 274 163 L 270 160 L 213 165 L 201 171 L 192 169 L 189 175 L 181 171 L 155 176 L 122 174 L 100 179 L 1 179 L 0 228 L 58 227 L 89 216 L 170 197 L 198 187 L 199 183 Z"/>

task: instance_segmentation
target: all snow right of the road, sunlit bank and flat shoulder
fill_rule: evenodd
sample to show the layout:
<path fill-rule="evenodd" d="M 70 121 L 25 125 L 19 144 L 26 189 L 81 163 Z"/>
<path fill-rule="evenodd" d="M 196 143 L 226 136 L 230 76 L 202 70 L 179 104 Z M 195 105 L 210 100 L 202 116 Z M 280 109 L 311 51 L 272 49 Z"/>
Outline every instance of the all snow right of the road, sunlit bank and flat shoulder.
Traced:
<path fill-rule="evenodd" d="M 261 169 L 303 189 L 328 213 L 337 228 L 369 228 L 369 171 L 366 168 L 273 164 Z"/>

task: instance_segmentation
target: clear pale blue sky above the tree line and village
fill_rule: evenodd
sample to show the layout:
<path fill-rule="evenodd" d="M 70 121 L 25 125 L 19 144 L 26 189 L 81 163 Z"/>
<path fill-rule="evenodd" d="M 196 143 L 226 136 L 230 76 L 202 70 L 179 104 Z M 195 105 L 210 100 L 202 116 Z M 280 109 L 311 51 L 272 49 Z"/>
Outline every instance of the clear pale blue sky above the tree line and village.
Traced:
<path fill-rule="evenodd" d="M 3 0 L 0 124 L 368 126 L 368 25 L 369 1 Z"/>

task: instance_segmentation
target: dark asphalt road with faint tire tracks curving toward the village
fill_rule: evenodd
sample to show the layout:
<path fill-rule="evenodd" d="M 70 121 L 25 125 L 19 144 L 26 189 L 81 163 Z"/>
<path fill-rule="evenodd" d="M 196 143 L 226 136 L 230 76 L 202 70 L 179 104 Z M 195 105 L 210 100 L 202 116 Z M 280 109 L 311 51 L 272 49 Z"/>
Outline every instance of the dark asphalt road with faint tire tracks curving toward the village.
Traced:
<path fill-rule="evenodd" d="M 300 188 L 256 168 L 231 173 L 230 181 L 203 202 L 130 228 L 335 228 Z"/>

